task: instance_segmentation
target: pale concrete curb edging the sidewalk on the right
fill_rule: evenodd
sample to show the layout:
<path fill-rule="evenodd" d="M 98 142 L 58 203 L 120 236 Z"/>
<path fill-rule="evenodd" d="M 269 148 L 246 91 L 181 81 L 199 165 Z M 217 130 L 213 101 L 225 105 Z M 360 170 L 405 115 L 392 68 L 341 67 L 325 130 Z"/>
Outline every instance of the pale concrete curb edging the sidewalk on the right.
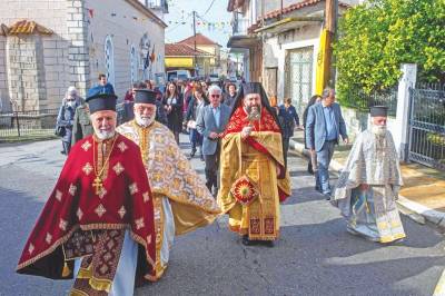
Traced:
<path fill-rule="evenodd" d="M 293 139 L 289 141 L 289 148 L 291 148 L 299 156 L 304 156 L 306 158 L 310 157 L 309 151 L 305 148 L 305 146 Z M 333 159 L 330 160 L 329 169 L 340 172 L 343 165 Z M 424 205 L 409 200 L 402 195 L 398 196 L 398 200 L 396 203 L 398 204 L 400 211 L 416 223 L 425 224 L 425 220 L 427 220 L 437 227 L 445 229 L 445 213 L 425 207 Z"/>

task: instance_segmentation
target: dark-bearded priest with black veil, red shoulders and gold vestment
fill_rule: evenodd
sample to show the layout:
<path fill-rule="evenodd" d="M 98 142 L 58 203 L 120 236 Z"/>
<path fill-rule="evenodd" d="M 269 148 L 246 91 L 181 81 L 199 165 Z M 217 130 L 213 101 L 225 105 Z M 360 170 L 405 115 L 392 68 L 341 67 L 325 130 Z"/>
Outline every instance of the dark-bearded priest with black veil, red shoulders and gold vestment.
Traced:
<path fill-rule="evenodd" d="M 273 246 L 279 236 L 279 203 L 290 196 L 281 129 L 263 86 L 244 83 L 221 136 L 218 204 L 243 244 Z"/>

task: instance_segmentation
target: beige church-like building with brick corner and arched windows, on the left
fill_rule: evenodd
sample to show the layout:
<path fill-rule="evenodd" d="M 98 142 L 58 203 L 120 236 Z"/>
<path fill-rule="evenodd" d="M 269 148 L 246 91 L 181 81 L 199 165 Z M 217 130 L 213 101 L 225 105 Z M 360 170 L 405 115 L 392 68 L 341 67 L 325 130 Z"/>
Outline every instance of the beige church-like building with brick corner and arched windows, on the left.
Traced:
<path fill-rule="evenodd" d="M 164 73 L 166 8 L 159 0 L 0 1 L 3 109 L 57 108 L 69 86 L 85 96 L 99 72 L 119 98 L 131 82 Z"/>

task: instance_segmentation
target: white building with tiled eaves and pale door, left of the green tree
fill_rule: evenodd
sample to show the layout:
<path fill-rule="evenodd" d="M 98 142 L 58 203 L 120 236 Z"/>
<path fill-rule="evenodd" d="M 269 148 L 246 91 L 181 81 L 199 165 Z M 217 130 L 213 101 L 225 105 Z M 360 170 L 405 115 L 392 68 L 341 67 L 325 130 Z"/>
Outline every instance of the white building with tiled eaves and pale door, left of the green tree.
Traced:
<path fill-rule="evenodd" d="M 338 14 L 358 2 L 338 0 Z M 261 81 L 279 102 L 290 97 L 298 114 L 315 95 L 325 4 L 323 0 L 228 1 L 234 13 L 228 47 L 245 52 L 246 80 Z"/>

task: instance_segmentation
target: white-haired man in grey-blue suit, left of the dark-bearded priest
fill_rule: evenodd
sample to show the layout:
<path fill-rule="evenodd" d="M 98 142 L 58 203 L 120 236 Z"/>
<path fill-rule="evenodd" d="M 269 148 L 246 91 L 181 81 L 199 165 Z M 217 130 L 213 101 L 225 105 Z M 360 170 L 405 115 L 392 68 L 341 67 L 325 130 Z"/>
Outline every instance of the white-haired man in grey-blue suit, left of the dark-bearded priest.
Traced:
<path fill-rule="evenodd" d="M 221 89 L 210 86 L 208 89 L 210 103 L 202 107 L 196 120 L 196 129 L 202 135 L 202 154 L 206 161 L 206 185 L 216 196 L 218 193 L 219 139 L 230 117 L 230 107 L 222 105 Z"/>

